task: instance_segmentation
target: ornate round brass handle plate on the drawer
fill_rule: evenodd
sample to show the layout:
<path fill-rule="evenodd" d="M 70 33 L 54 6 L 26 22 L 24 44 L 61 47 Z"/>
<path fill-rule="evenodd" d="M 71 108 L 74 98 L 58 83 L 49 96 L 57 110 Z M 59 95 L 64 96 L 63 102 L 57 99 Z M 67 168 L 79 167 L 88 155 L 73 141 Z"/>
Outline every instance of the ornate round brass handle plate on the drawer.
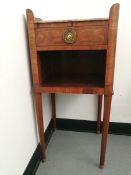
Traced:
<path fill-rule="evenodd" d="M 76 41 L 76 31 L 73 29 L 67 29 L 64 32 L 64 42 L 72 44 Z"/>

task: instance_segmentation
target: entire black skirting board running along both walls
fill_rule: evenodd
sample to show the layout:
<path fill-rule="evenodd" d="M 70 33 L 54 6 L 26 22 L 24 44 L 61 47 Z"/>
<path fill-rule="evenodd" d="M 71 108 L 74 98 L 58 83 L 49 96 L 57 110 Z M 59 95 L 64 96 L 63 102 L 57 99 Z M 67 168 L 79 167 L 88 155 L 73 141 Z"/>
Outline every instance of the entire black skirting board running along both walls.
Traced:
<path fill-rule="evenodd" d="M 57 118 L 56 128 L 58 130 L 96 133 L 96 121 Z M 53 121 L 51 120 L 45 131 L 46 146 L 48 145 L 51 139 L 52 133 L 53 133 Z M 110 122 L 109 133 L 131 136 L 131 124 Z M 38 144 L 23 175 L 35 175 L 35 172 L 37 171 L 37 168 L 40 164 L 40 161 L 41 161 L 41 149 L 40 144 Z"/>

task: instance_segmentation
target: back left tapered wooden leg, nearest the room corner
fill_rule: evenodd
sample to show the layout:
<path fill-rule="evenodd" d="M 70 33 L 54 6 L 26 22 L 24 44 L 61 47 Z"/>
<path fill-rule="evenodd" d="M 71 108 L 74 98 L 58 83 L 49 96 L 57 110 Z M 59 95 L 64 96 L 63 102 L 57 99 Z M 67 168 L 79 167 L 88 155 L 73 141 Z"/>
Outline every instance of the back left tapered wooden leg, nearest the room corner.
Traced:
<path fill-rule="evenodd" d="M 51 106 L 52 106 L 52 119 L 54 130 L 56 129 L 56 103 L 55 103 L 55 94 L 51 94 Z"/>

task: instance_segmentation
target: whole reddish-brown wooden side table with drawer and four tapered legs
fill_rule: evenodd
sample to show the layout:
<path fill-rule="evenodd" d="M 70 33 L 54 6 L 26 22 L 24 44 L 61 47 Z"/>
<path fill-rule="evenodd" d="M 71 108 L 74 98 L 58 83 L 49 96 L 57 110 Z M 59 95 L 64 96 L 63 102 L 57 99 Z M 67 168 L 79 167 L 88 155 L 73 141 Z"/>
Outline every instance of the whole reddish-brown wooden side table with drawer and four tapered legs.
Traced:
<path fill-rule="evenodd" d="M 55 93 L 97 94 L 97 132 L 104 95 L 100 156 L 100 168 L 103 168 L 113 95 L 119 4 L 114 4 L 109 18 L 104 19 L 43 21 L 34 18 L 31 10 L 26 12 L 42 160 L 45 160 L 42 93 L 51 94 L 54 128 Z"/>

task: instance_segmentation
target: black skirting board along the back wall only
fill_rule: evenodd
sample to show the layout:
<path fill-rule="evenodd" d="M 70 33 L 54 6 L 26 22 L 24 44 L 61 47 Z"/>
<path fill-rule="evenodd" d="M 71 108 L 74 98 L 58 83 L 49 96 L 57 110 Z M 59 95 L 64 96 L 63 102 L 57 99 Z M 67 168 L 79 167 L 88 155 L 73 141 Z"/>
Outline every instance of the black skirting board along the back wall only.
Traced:
<path fill-rule="evenodd" d="M 57 118 L 56 128 L 58 130 L 96 133 L 96 121 Z M 131 124 L 110 122 L 109 134 L 131 135 Z"/>

